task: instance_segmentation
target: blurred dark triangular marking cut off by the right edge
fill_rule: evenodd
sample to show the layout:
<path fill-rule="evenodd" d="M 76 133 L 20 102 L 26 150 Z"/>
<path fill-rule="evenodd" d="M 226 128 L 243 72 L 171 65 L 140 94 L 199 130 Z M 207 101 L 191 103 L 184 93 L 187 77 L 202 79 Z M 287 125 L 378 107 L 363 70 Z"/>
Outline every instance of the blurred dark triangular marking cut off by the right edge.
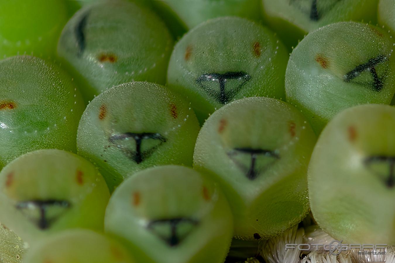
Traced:
<path fill-rule="evenodd" d="M 395 187 L 395 157 L 385 155 L 373 155 L 365 158 L 365 165 L 384 181 L 388 188 Z"/>

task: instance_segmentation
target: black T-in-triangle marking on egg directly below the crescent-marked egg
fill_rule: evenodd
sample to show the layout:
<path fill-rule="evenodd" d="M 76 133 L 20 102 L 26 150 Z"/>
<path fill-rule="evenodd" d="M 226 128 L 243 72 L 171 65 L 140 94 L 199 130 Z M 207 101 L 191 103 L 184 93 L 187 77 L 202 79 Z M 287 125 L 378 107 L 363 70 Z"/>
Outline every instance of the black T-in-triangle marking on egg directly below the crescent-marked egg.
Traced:
<path fill-rule="evenodd" d="M 126 140 L 132 138 L 136 142 L 136 150 L 131 151 L 122 145 L 117 145 L 119 149 L 124 151 L 126 155 L 134 160 L 137 164 L 140 164 L 145 158 L 149 157 L 160 144 L 166 142 L 166 138 L 160 135 L 159 133 L 152 133 L 152 132 L 142 132 L 142 133 L 135 133 L 135 132 L 125 132 L 122 134 L 113 134 L 109 138 L 109 142 L 116 144 L 117 140 Z M 141 151 L 141 144 L 144 139 L 153 139 L 159 140 L 160 144 L 152 147 L 147 151 Z"/>

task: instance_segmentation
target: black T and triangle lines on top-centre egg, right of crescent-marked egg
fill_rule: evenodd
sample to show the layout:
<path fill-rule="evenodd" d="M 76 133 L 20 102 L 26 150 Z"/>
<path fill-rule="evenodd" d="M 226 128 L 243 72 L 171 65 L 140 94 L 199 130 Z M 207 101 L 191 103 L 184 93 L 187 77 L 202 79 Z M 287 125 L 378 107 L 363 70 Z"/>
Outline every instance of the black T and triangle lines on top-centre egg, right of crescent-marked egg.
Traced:
<path fill-rule="evenodd" d="M 237 86 L 237 88 L 235 88 L 234 90 L 231 90 L 230 92 L 226 92 L 225 91 L 225 84 L 226 84 L 226 80 L 228 79 L 240 79 L 242 82 L 240 83 L 239 86 Z M 251 76 L 248 75 L 247 73 L 244 72 L 227 72 L 224 74 L 219 74 L 219 73 L 209 73 L 209 74 L 203 74 L 201 76 L 199 76 L 196 79 L 196 83 L 203 89 L 206 91 L 206 93 L 208 93 L 209 95 L 211 95 L 211 93 L 214 93 L 214 98 L 222 104 L 226 104 L 229 101 L 231 101 L 231 99 L 233 99 L 234 95 L 239 92 L 239 90 L 246 84 L 246 82 L 248 82 L 251 79 Z M 208 81 L 218 81 L 219 83 L 219 92 L 218 91 L 212 91 L 211 89 L 205 87 L 204 82 L 208 82 Z"/>

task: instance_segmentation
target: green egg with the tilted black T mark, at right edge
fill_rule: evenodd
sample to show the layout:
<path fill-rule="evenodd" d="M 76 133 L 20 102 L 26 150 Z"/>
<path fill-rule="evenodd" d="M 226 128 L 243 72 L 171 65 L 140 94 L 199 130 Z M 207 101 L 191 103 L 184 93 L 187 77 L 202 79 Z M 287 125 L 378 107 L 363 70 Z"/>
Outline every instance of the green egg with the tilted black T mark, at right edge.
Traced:
<path fill-rule="evenodd" d="M 317 134 L 345 108 L 389 104 L 395 92 L 394 45 L 385 30 L 356 22 L 308 34 L 288 62 L 287 101 L 305 114 Z"/>

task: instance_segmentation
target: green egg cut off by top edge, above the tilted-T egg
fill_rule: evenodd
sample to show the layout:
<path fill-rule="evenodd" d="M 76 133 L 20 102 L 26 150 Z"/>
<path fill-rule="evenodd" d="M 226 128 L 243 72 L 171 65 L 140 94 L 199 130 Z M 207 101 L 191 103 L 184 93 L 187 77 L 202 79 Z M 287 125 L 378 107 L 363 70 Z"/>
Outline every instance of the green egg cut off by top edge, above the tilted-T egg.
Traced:
<path fill-rule="evenodd" d="M 263 17 L 284 43 L 340 21 L 376 22 L 378 0 L 262 0 Z"/>

